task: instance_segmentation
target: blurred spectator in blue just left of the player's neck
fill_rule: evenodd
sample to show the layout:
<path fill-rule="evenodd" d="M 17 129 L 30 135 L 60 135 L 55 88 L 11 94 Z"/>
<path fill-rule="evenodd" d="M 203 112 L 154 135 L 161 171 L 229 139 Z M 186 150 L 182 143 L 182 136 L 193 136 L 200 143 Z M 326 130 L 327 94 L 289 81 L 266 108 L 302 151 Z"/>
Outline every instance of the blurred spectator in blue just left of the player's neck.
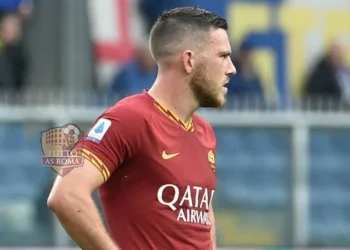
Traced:
<path fill-rule="evenodd" d="M 111 83 L 113 93 L 120 97 L 136 94 L 151 87 L 157 76 L 157 66 L 147 44 L 137 47 L 136 57 L 117 73 Z"/>

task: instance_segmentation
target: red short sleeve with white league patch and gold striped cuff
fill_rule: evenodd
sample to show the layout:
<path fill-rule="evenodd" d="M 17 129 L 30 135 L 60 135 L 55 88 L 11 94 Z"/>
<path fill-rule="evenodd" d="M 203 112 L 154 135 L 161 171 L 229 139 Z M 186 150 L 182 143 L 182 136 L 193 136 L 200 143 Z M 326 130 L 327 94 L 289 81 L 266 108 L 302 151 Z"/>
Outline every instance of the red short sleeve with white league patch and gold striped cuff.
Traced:
<path fill-rule="evenodd" d="M 99 169 L 105 181 L 125 161 L 134 157 L 142 144 L 145 119 L 123 106 L 101 115 L 75 149 Z"/>

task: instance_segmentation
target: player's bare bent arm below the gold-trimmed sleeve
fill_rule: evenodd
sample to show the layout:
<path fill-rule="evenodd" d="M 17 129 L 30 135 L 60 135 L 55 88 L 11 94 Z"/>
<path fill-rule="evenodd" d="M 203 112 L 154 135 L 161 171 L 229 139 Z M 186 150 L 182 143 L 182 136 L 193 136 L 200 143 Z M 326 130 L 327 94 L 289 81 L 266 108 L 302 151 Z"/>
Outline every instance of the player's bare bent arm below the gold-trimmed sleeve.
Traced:
<path fill-rule="evenodd" d="M 64 229 L 83 250 L 118 250 L 105 229 L 92 192 L 104 182 L 88 160 L 64 177 L 57 177 L 48 206 Z"/>

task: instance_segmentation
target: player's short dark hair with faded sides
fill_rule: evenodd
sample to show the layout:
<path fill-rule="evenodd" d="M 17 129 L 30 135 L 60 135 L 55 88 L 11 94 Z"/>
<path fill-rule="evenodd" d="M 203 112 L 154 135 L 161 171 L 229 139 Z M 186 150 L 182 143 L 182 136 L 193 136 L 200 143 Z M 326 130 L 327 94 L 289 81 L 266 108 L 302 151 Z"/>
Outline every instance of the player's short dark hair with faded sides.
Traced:
<path fill-rule="evenodd" d="M 150 50 L 157 61 L 172 55 L 172 45 L 191 38 L 199 43 L 210 29 L 228 30 L 227 22 L 217 14 L 197 7 L 175 8 L 163 12 L 150 32 Z"/>

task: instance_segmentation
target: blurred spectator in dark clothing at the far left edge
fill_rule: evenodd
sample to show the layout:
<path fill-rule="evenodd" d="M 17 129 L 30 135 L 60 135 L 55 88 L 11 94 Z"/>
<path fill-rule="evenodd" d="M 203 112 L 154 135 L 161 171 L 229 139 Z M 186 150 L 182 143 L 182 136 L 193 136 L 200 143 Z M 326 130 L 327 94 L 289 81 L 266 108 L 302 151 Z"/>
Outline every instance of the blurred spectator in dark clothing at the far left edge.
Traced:
<path fill-rule="evenodd" d="M 0 88 L 16 92 L 25 85 L 27 69 L 21 27 L 16 14 L 5 14 L 0 18 Z"/>

